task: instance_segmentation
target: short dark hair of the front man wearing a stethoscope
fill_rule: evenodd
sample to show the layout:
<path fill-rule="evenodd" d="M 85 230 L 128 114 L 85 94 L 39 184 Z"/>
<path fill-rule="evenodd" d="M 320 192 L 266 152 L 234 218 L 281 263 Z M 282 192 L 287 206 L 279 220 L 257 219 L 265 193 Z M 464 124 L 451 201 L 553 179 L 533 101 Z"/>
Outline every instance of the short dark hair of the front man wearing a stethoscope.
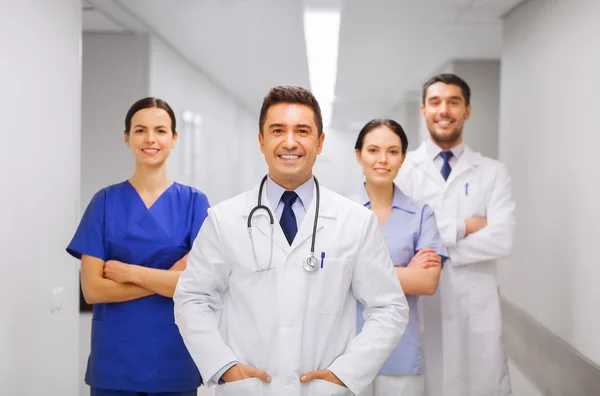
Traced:
<path fill-rule="evenodd" d="M 321 136 L 323 133 L 323 117 L 321 116 L 319 102 L 317 102 L 315 96 L 308 89 L 290 85 L 271 88 L 267 96 L 265 96 L 258 118 L 258 128 L 261 134 L 263 133 L 269 107 L 279 103 L 301 104 L 310 107 L 315 114 L 315 124 L 317 125 L 319 136 Z"/>

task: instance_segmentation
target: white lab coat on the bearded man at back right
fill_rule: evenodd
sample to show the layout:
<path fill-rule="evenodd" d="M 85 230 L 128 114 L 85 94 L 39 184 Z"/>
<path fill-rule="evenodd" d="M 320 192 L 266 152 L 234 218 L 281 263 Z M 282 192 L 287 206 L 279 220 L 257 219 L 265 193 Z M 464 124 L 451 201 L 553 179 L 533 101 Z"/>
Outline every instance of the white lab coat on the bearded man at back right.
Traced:
<path fill-rule="evenodd" d="M 446 182 L 422 144 L 407 155 L 396 182 L 435 210 L 450 256 L 437 293 L 421 299 L 428 395 L 510 395 L 495 261 L 513 243 L 506 168 L 465 146 Z M 468 217 L 486 217 L 488 225 L 457 241 L 457 224 Z"/>

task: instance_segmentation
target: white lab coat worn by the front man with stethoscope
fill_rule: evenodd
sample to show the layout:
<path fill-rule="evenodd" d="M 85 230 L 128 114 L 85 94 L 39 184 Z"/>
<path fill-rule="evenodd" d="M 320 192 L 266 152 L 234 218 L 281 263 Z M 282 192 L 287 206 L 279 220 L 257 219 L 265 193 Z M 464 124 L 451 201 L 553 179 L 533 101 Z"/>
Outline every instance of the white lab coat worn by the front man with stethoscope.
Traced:
<path fill-rule="evenodd" d="M 175 321 L 192 358 L 209 385 L 236 360 L 272 378 L 271 384 L 247 379 L 217 385 L 217 396 L 359 393 L 398 344 L 408 320 L 376 217 L 321 188 L 315 255 L 320 261 L 325 252 L 323 269 L 309 273 L 302 267 L 310 252 L 315 197 L 292 246 L 275 219 L 274 269 L 254 272 L 246 224 L 257 194 L 258 187 L 209 210 L 177 284 Z M 253 230 L 259 264 L 268 267 L 271 238 L 264 211 L 253 216 Z M 357 299 L 368 316 L 358 336 Z M 348 388 L 320 380 L 300 383 L 300 375 L 325 368 Z"/>

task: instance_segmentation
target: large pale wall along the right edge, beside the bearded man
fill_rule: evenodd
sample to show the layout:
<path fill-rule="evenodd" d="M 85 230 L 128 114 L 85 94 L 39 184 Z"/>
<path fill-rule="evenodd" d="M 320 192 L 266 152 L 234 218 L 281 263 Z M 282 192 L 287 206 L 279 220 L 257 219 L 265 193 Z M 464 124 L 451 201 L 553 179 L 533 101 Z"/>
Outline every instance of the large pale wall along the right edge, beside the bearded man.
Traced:
<path fill-rule="evenodd" d="M 598 1 L 532 0 L 506 17 L 500 117 L 518 218 L 503 293 L 596 364 L 599 15 Z"/>

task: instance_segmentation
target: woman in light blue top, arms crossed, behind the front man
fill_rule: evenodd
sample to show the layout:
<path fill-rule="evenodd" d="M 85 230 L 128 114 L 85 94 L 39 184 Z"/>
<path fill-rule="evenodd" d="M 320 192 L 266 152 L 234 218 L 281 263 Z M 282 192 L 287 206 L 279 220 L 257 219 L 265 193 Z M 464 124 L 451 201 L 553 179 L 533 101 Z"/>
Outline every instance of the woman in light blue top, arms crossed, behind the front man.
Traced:
<path fill-rule="evenodd" d="M 394 120 L 370 121 L 360 131 L 355 145 L 356 158 L 366 178 L 355 200 L 377 215 L 410 309 L 399 345 L 360 396 L 425 394 L 417 301 L 419 295 L 435 293 L 448 253 L 433 210 L 407 197 L 394 184 L 407 146 L 406 134 Z M 364 324 L 363 310 L 359 304 L 358 332 Z"/>

